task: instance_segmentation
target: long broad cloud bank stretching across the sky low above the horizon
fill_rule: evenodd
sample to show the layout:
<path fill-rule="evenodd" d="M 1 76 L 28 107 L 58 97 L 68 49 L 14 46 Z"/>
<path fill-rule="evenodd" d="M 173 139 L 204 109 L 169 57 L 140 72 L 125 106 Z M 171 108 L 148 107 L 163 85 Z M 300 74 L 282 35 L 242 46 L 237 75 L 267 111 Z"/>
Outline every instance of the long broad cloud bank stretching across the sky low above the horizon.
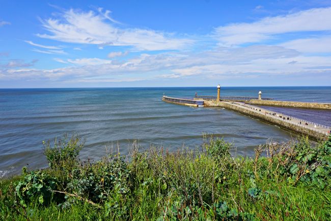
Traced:
<path fill-rule="evenodd" d="M 75 81 L 78 79 L 116 79 L 125 81 L 128 75 L 139 79 L 185 78 L 188 76 L 210 77 L 235 74 L 245 77 L 272 74 L 283 75 L 305 70 L 312 66 L 327 66 L 327 57 L 303 57 L 294 50 L 281 46 L 254 45 L 246 48 L 217 48 L 214 51 L 191 54 L 162 53 L 141 54 L 124 62 L 112 62 L 101 58 L 54 59 L 58 62 L 75 64 L 52 70 L 19 70 L 6 72 L 7 78 L 40 78 Z M 289 64 L 293 60 L 294 64 Z M 167 72 L 165 75 L 164 72 Z M 323 70 L 321 70 L 323 71 Z M 24 75 L 23 75 L 24 74 Z M 4 76 L 4 75 L 3 75 Z M 5 78 L 5 77 L 3 77 Z M 97 80 L 96 80 L 97 81 Z"/>

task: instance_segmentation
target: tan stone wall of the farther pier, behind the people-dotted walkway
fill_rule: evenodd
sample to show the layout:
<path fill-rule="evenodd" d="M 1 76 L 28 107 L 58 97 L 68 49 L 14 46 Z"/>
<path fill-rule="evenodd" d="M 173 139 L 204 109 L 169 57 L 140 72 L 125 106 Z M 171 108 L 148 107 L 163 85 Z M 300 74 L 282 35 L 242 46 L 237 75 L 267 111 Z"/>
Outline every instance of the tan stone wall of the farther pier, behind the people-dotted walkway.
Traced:
<path fill-rule="evenodd" d="M 249 102 L 245 102 L 245 103 L 252 104 L 252 105 L 262 105 L 262 106 L 279 106 L 279 107 L 295 107 L 295 108 L 331 110 L 331 104 L 327 104 L 327 103 L 265 101 L 265 100 L 250 100 Z"/>

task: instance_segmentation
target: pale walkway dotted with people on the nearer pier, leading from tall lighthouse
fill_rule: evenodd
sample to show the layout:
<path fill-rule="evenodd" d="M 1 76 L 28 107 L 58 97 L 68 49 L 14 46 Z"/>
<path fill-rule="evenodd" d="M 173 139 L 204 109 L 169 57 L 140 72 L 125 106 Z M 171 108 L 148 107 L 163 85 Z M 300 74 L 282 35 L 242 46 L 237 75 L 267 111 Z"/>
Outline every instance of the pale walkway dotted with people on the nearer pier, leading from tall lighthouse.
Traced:
<path fill-rule="evenodd" d="M 227 103 L 228 105 L 233 105 L 236 106 L 238 108 L 244 109 L 245 112 L 247 111 L 253 111 L 259 115 L 264 115 L 265 117 L 270 117 L 270 118 L 274 118 L 277 121 L 284 121 L 284 123 L 286 124 L 290 124 L 293 125 L 294 128 L 302 128 L 305 130 L 311 130 L 312 132 L 316 132 L 319 133 L 321 135 L 325 135 L 326 137 L 329 135 L 331 128 L 327 127 L 325 125 L 320 125 L 320 124 L 316 124 L 314 122 L 310 122 L 308 120 L 304 120 L 304 119 L 299 119 L 296 117 L 292 117 L 286 114 L 282 114 L 279 112 L 275 112 L 275 111 L 270 111 L 264 108 L 260 108 L 257 106 L 253 106 L 253 105 L 249 105 L 249 104 L 245 104 L 242 102 L 224 102 Z M 263 118 L 265 118 L 263 117 Z"/>

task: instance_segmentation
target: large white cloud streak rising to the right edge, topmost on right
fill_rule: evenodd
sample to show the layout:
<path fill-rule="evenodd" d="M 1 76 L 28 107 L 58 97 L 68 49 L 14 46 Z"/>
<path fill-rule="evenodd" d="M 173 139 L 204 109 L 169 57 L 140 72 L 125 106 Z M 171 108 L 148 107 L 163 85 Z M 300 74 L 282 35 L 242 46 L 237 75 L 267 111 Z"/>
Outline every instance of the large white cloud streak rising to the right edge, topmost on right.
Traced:
<path fill-rule="evenodd" d="M 215 29 L 215 37 L 223 45 L 239 45 L 260 42 L 272 38 L 273 35 L 306 32 L 330 31 L 331 8 L 317 8 L 266 17 L 252 23 L 233 23 Z"/>

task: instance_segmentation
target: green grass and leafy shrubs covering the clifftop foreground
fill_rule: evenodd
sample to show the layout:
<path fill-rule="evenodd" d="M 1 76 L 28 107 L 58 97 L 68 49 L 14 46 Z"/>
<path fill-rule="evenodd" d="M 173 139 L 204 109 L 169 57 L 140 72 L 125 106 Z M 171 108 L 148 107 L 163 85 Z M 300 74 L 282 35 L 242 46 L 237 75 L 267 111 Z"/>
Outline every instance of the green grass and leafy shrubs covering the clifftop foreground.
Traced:
<path fill-rule="evenodd" d="M 45 142 L 51 167 L 1 180 L 0 220 L 331 220 L 331 137 L 266 144 L 253 158 L 212 137 L 201 151 L 134 145 L 130 161 L 93 164 L 77 159 L 83 144 Z"/>

